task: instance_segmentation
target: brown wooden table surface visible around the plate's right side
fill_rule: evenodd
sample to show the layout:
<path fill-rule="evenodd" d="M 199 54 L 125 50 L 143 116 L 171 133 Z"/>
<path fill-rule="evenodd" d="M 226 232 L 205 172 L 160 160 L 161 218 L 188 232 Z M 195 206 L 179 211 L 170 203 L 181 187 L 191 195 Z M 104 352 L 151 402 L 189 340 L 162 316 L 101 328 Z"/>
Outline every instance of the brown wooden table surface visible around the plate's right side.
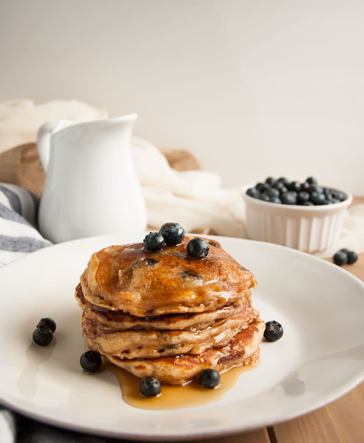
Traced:
<path fill-rule="evenodd" d="M 353 204 L 364 203 L 355 198 Z M 332 260 L 330 260 L 332 261 Z M 344 269 L 364 281 L 364 253 Z M 364 294 L 363 294 L 364 296 Z M 197 443 L 201 440 L 194 440 Z M 338 400 L 285 423 L 205 443 L 356 443 L 364 442 L 364 382 Z"/>

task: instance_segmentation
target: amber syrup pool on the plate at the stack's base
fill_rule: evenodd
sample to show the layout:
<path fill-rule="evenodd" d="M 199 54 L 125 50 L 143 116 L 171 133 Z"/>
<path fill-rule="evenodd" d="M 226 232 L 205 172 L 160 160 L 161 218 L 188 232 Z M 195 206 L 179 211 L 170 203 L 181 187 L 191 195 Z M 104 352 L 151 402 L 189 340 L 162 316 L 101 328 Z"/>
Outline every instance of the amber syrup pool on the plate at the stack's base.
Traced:
<path fill-rule="evenodd" d="M 120 384 L 123 399 L 131 406 L 141 409 L 167 410 L 192 408 L 219 400 L 235 387 L 241 375 L 256 368 L 258 364 L 241 365 L 222 373 L 220 385 L 215 389 L 202 388 L 199 381 L 195 379 L 184 386 L 162 385 L 160 395 L 150 398 L 142 397 L 140 394 L 141 379 L 125 369 L 103 359 L 98 373 L 106 370 L 112 372 Z"/>

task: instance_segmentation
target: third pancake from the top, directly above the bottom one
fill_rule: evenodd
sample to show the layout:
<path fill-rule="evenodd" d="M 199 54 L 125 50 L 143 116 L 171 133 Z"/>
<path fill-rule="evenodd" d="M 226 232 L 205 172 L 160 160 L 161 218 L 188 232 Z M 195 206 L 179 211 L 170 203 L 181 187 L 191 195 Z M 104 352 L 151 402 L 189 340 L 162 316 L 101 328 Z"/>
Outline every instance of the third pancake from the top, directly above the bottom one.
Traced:
<path fill-rule="evenodd" d="M 253 321 L 250 313 L 240 312 L 215 320 L 196 330 L 110 330 L 82 314 L 83 334 L 98 347 L 100 354 L 119 358 L 157 358 L 160 355 L 200 354 L 234 337 Z"/>

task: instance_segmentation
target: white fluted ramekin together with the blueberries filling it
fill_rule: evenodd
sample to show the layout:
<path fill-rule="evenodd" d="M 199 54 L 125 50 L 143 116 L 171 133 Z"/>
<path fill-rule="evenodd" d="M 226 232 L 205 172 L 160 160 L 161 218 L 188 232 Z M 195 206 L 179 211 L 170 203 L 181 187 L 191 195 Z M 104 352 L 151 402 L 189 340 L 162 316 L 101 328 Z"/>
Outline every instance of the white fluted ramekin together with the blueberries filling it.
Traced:
<path fill-rule="evenodd" d="M 305 182 L 268 177 L 242 188 L 247 234 L 309 253 L 323 251 L 340 237 L 345 211 L 352 202 L 347 191 Z"/>

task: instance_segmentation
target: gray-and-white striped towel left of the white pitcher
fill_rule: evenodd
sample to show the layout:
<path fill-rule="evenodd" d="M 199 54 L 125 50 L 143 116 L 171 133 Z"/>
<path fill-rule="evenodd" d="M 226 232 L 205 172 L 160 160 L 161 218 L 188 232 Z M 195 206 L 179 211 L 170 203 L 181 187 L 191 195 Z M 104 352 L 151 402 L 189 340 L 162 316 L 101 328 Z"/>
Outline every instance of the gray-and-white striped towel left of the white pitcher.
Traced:
<path fill-rule="evenodd" d="M 37 231 L 38 206 L 35 194 L 0 183 L 0 267 L 51 245 Z"/>

